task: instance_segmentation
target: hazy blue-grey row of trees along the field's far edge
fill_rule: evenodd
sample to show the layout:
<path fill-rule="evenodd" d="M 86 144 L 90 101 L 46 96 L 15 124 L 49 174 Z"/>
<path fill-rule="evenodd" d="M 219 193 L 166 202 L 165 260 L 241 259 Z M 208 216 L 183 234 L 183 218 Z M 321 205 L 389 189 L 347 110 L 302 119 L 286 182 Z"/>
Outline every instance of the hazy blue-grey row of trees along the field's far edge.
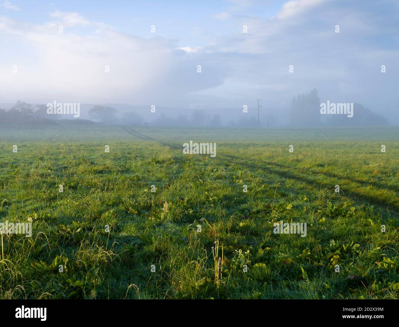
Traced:
<path fill-rule="evenodd" d="M 353 117 L 347 115 L 321 115 L 320 98 L 316 88 L 308 94 L 298 95 L 291 102 L 290 125 L 293 127 L 322 127 L 322 126 L 371 126 L 371 125 L 389 125 L 385 117 L 373 113 L 370 109 L 360 103 L 354 103 Z M 118 110 L 113 107 L 95 105 L 88 114 L 95 122 L 105 124 L 122 125 L 143 125 L 143 117 L 136 111 L 123 113 L 120 118 L 117 117 Z M 267 113 L 267 117 L 261 117 L 261 127 L 276 126 L 277 121 L 273 113 Z M 9 110 L 0 108 L 0 123 L 54 123 L 57 119 L 65 119 L 67 115 L 49 115 L 47 114 L 47 105 L 32 105 L 30 103 L 17 101 Z M 324 116 L 324 117 L 322 117 Z M 78 122 L 76 119 L 75 122 Z M 90 123 L 90 121 L 80 120 L 80 122 Z M 209 114 L 204 110 L 195 110 L 191 117 L 178 115 L 170 117 L 161 113 L 158 118 L 150 122 L 152 126 L 164 127 L 222 127 L 222 120 L 219 114 Z M 227 127 L 257 127 L 258 117 L 247 116 L 237 119 L 230 119 Z"/>

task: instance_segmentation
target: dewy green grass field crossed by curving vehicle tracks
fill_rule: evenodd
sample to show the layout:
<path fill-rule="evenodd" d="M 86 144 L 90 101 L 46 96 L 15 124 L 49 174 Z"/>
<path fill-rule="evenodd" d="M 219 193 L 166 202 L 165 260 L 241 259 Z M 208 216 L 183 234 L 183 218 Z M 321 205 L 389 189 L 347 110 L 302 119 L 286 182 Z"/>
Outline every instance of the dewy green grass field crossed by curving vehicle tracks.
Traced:
<path fill-rule="evenodd" d="M 2 126 L 0 298 L 397 299 L 398 168 L 397 127 Z"/>

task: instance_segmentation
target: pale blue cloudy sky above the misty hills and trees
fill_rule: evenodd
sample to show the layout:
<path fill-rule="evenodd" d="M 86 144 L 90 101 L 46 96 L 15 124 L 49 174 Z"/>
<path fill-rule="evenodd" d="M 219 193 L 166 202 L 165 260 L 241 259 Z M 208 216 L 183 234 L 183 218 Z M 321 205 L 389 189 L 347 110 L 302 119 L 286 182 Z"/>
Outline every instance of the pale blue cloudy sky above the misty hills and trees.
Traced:
<path fill-rule="evenodd" d="M 398 32 L 396 0 L 0 0 L 0 103 L 282 113 L 316 87 L 399 123 Z"/>

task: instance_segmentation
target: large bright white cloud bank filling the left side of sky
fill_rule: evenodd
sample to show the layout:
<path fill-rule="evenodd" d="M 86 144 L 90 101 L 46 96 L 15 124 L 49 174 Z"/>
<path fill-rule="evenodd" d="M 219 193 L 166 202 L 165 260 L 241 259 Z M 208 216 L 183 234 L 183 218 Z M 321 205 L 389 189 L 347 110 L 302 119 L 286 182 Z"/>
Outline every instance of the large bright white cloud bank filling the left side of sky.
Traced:
<path fill-rule="evenodd" d="M 69 26 L 92 24 L 78 14 L 52 16 Z M 198 57 L 201 47 L 182 51 L 176 41 L 159 36 L 146 39 L 109 29 L 59 33 L 57 24 L 38 26 L 0 17 L 0 43 L 7 39 L 13 41 L 7 43 L 7 56 L 0 63 L 0 89 L 26 93 L 24 99 L 30 102 L 29 94 L 34 93 L 70 96 L 74 102 L 179 99 L 220 85 L 225 76 L 218 63 Z M 198 64 L 201 74 L 196 72 Z M 13 73 L 13 65 L 18 73 Z"/>

